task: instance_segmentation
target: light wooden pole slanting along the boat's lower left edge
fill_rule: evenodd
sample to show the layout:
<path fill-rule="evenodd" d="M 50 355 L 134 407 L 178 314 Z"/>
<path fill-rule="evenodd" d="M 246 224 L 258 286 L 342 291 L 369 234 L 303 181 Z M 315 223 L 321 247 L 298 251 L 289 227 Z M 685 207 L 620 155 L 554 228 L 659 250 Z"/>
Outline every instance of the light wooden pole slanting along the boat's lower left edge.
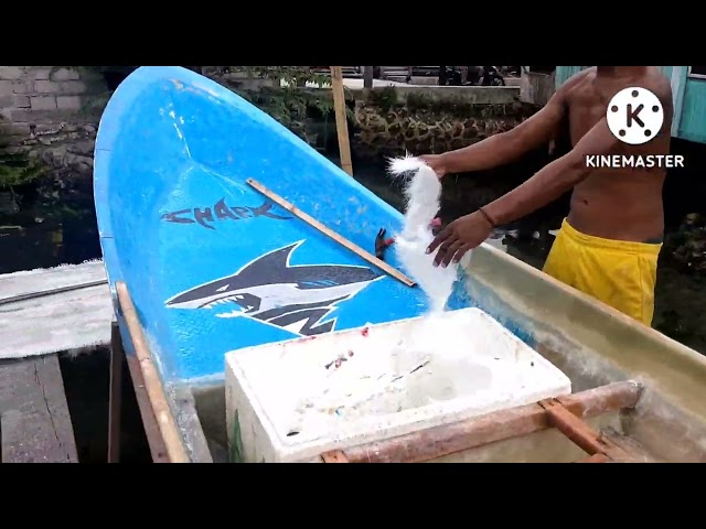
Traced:
<path fill-rule="evenodd" d="M 115 288 L 118 294 L 120 311 L 122 312 L 122 317 L 130 333 L 135 354 L 139 360 L 140 371 L 145 380 L 145 389 L 152 404 L 162 440 L 167 446 L 169 461 L 171 463 L 189 463 L 190 460 L 186 454 L 186 449 L 182 443 L 182 436 L 169 408 L 164 388 L 162 387 L 157 367 L 154 367 L 154 363 L 152 361 L 150 349 L 142 333 L 142 327 L 137 317 L 137 311 L 130 299 L 128 288 L 122 281 L 118 281 Z"/>

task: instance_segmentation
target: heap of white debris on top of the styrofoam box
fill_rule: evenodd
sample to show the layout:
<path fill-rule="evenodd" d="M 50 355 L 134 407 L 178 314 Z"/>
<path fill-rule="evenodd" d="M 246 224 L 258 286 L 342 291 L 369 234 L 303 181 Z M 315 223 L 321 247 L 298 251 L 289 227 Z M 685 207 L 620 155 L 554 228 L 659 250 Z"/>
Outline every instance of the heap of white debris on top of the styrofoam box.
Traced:
<path fill-rule="evenodd" d="M 467 391 L 468 384 L 482 389 L 489 382 L 479 384 L 475 371 L 484 370 L 481 376 L 489 378 L 490 369 L 478 360 L 473 373 L 454 380 L 453 374 L 468 370 L 471 347 L 454 338 L 454 322 L 443 314 L 449 313 L 430 314 L 406 332 L 373 326 L 370 336 L 368 327 L 360 334 L 347 333 L 336 344 L 345 343 L 345 348 L 336 347 L 313 373 L 311 366 L 293 363 L 281 369 L 289 382 L 276 384 L 306 380 L 298 384 L 289 431 L 328 431 L 336 424 L 432 404 Z M 331 348 L 319 341 L 309 344 L 315 356 L 321 347 Z"/>

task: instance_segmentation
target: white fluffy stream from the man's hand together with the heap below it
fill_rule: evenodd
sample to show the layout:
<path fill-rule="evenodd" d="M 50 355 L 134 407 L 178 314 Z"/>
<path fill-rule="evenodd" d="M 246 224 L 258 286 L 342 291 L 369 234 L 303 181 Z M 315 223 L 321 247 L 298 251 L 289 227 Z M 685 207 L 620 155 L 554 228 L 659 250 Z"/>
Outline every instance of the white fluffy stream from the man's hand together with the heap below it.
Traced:
<path fill-rule="evenodd" d="M 407 202 L 405 224 L 395 236 L 394 248 L 405 272 L 429 299 L 430 312 L 406 337 L 383 328 L 376 330 L 374 339 L 360 344 L 360 336 L 350 336 L 349 353 L 354 355 L 341 355 L 338 363 L 331 358 L 315 376 L 293 376 L 307 382 L 295 406 L 292 431 L 323 431 L 342 419 L 350 422 L 451 399 L 468 391 L 466 382 L 478 388 L 490 384 L 490 370 L 469 363 L 471 347 L 459 343 L 453 320 L 445 317 L 458 264 L 435 267 L 435 255 L 426 252 L 434 240 L 430 225 L 439 210 L 441 183 L 418 158 L 391 160 L 389 173 L 405 181 Z M 291 376 L 292 371 L 286 373 Z M 467 374 L 463 388 L 457 387 L 453 378 L 459 373 Z"/>

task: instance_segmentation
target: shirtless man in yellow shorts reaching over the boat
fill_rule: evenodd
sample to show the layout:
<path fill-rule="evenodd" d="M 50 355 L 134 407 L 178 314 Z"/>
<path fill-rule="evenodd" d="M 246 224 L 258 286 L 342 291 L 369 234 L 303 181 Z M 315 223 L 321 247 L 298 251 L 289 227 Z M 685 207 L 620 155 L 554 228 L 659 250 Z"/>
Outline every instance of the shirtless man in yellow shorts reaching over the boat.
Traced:
<path fill-rule="evenodd" d="M 662 129 L 640 145 L 619 141 L 606 120 L 608 102 L 628 87 L 651 90 L 664 110 Z M 655 66 L 598 66 L 568 79 L 541 111 L 514 129 L 464 149 L 421 156 L 439 177 L 486 170 L 549 143 L 567 122 L 573 145 L 518 187 L 449 224 L 427 253 L 438 249 L 436 266 L 458 262 L 493 227 L 517 220 L 573 188 L 569 215 L 544 271 L 651 325 L 666 170 L 589 169 L 586 156 L 668 154 L 672 115 L 670 82 Z"/>

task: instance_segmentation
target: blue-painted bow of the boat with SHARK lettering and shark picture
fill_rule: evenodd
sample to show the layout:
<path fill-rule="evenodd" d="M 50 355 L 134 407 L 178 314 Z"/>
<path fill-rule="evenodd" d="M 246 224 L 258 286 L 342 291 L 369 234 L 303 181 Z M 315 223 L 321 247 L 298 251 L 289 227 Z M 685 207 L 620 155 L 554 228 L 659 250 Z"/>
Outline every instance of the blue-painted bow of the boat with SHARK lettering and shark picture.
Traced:
<path fill-rule="evenodd" d="M 141 67 L 110 99 L 95 152 L 104 262 L 114 296 L 127 284 L 164 384 L 222 381 L 224 355 L 242 347 L 428 309 L 419 288 L 249 179 L 368 251 L 381 227 L 402 226 L 399 212 L 275 119 L 191 71 Z M 394 251 L 387 262 L 400 268 Z M 463 292 L 451 309 L 467 304 Z"/>

